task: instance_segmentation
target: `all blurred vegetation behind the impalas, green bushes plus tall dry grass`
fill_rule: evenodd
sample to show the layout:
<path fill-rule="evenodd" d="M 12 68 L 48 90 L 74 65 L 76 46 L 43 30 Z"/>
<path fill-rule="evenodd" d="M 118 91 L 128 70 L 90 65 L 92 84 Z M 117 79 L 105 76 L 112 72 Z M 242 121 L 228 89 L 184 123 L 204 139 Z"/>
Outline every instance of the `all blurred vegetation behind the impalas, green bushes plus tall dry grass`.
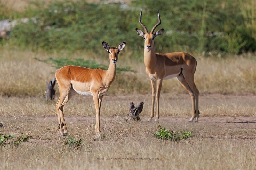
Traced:
<path fill-rule="evenodd" d="M 195 82 L 201 93 L 256 93 L 255 0 L 1 0 L 0 20 L 29 21 L 0 39 L 0 95 L 44 95 L 45 82 L 56 70 L 51 65 L 81 63 L 106 69 L 109 60 L 102 41 L 110 46 L 125 41 L 117 67 L 136 71 L 119 72 L 109 93 L 150 93 L 144 40 L 135 31 L 142 29 L 141 8 L 148 30 L 160 11 L 162 24 L 156 30 L 164 32 L 155 39 L 156 52 L 195 56 Z M 187 93 L 174 80 L 164 81 L 162 89 Z"/>

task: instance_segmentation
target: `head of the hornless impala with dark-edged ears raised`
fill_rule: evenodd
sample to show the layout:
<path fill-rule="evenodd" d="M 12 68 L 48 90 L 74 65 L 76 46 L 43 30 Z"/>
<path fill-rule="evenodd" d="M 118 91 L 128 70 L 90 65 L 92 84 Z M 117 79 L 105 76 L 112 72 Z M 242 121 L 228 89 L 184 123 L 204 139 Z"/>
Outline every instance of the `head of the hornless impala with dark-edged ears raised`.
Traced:
<path fill-rule="evenodd" d="M 109 59 L 110 59 L 110 61 L 112 61 L 113 64 L 116 64 L 117 59 L 118 59 L 118 54 L 119 54 L 120 50 L 124 49 L 125 44 L 126 44 L 125 42 L 122 42 L 118 47 L 109 48 L 108 43 L 106 43 L 104 41 L 102 42 L 103 48 L 108 51 Z"/>

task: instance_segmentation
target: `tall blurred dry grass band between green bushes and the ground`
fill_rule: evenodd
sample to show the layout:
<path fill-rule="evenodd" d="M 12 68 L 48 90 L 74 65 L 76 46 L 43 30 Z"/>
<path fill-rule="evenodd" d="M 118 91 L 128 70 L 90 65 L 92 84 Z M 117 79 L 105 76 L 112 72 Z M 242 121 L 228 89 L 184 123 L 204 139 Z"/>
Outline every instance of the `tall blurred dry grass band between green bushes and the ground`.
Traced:
<path fill-rule="evenodd" d="M 21 50 L 8 46 L 0 47 L 0 95 L 35 96 L 44 95 L 45 83 L 54 77 L 55 68 L 34 60 L 58 56 L 85 58 L 109 64 L 107 54 L 92 53 L 46 53 Z M 127 56 L 128 54 L 128 56 Z M 120 73 L 111 85 L 109 94 L 150 93 L 151 85 L 143 63 L 131 60 L 129 51 L 119 57 L 118 65 L 131 66 L 137 73 Z M 200 93 L 241 94 L 256 93 L 255 56 L 230 56 L 228 58 L 205 58 L 196 56 L 198 61 L 195 83 Z M 165 80 L 162 92 L 187 93 L 176 79 Z"/>

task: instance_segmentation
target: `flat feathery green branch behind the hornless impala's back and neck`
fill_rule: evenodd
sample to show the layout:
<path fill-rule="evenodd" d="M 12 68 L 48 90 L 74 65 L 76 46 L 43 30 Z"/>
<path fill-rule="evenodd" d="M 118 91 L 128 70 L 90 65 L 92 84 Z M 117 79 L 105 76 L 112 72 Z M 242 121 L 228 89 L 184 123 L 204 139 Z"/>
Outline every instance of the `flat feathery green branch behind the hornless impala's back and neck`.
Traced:
<path fill-rule="evenodd" d="M 82 58 L 76 58 L 76 59 L 72 60 L 70 58 L 65 58 L 65 57 L 58 57 L 56 59 L 53 59 L 52 57 L 50 57 L 45 60 L 40 60 L 35 57 L 34 59 L 41 61 L 41 62 L 50 63 L 56 69 L 59 69 L 63 66 L 67 66 L 67 65 L 81 66 L 81 67 L 86 67 L 86 68 L 101 68 L 103 70 L 108 69 L 108 66 L 106 66 L 104 64 L 99 64 L 96 61 L 92 61 L 92 60 L 84 60 Z M 116 68 L 117 73 L 121 72 L 121 71 L 136 72 L 135 70 L 132 70 L 130 67 L 117 67 Z"/>

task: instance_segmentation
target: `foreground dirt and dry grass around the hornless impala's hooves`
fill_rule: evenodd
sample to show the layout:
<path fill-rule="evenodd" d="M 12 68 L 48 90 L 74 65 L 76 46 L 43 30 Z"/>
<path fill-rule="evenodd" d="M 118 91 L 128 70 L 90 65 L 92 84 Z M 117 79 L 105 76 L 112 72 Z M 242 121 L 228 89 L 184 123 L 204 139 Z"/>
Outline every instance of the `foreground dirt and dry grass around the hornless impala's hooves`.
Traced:
<path fill-rule="evenodd" d="M 64 145 L 57 130 L 57 117 L 2 117 L 1 133 L 32 138 L 19 147 L 0 146 L 4 169 L 255 169 L 255 123 L 252 117 L 165 117 L 162 126 L 191 131 L 193 138 L 174 143 L 153 137 L 157 123 L 125 122 L 123 117 L 101 118 L 103 137 L 96 139 L 95 118 L 66 118 L 70 136 L 82 139 L 77 151 Z M 228 121 L 225 121 L 226 119 Z M 248 123 L 246 123 L 248 121 Z M 251 123 L 250 123 L 251 122 Z M 255 122 L 255 119 L 254 119 Z M 105 158 L 105 160 L 97 160 Z M 159 160 L 106 160 L 106 158 L 157 158 Z"/>

